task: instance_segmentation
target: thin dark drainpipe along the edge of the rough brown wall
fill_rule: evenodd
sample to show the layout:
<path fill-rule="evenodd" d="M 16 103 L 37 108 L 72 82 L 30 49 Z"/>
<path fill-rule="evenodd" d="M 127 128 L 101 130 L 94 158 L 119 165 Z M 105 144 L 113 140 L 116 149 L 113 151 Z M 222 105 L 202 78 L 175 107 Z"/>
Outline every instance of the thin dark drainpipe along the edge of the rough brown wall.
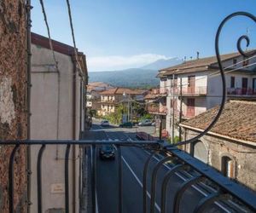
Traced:
<path fill-rule="evenodd" d="M 27 127 L 26 127 L 26 138 L 30 140 L 30 118 L 31 118 L 31 0 L 26 0 L 26 110 L 27 110 Z M 30 213 L 31 205 L 31 147 L 26 146 L 26 211 Z"/>

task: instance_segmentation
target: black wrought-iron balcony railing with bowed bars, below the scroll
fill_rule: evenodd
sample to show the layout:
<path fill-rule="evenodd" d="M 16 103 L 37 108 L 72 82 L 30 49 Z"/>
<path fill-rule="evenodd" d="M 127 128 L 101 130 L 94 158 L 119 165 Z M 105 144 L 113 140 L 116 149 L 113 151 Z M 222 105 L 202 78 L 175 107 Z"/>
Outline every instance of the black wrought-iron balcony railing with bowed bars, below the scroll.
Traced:
<path fill-rule="evenodd" d="M 37 184 L 38 184 L 38 213 L 42 212 L 42 188 L 44 182 L 42 181 L 42 169 L 41 162 L 44 155 L 45 147 L 53 145 L 66 145 L 66 154 L 63 167 L 65 168 L 65 212 L 69 212 L 69 178 L 68 178 L 68 164 L 69 164 L 69 153 L 70 148 L 73 145 L 83 145 L 84 148 L 90 149 L 90 182 L 91 182 L 91 194 L 90 202 L 92 204 L 92 212 L 96 212 L 96 152 L 99 146 L 103 144 L 111 144 L 116 147 L 117 159 L 118 159 L 118 212 L 123 211 L 123 170 L 122 170 L 122 153 L 121 147 L 138 147 L 150 152 L 148 159 L 144 164 L 143 169 L 143 212 L 146 213 L 148 210 L 154 213 L 156 192 L 160 190 L 160 212 L 165 213 L 166 208 L 172 209 L 172 212 L 179 212 L 181 205 L 189 206 L 191 200 L 183 199 L 184 193 L 189 191 L 190 187 L 205 186 L 211 192 L 206 193 L 204 198 L 196 199 L 196 206 L 191 212 L 204 212 L 211 208 L 221 208 L 226 211 L 237 210 L 238 212 L 256 210 L 256 195 L 246 187 L 242 187 L 236 182 L 230 181 L 229 178 L 224 177 L 218 171 L 212 169 L 207 164 L 202 163 L 196 158 L 192 158 L 188 153 L 177 149 L 176 147 L 170 147 L 163 141 L 60 141 L 60 140 L 49 140 L 49 141 L 0 141 L 1 146 L 12 146 L 15 145 L 9 158 L 9 213 L 13 213 L 15 210 L 14 199 L 14 162 L 15 153 L 21 146 L 33 146 L 41 145 L 38 152 L 37 162 Z M 159 161 L 153 165 L 152 160 L 159 158 Z M 150 164 L 149 164 L 150 163 Z M 50 166 L 50 165 L 49 165 Z M 156 187 L 157 175 L 160 173 L 160 168 L 165 166 L 167 168 L 164 174 L 163 180 L 160 181 L 161 187 Z M 50 168 L 53 169 L 53 168 Z M 173 176 L 181 176 L 183 174 L 183 181 L 181 181 L 177 187 L 177 190 L 173 191 L 173 200 L 166 199 L 167 185 L 172 182 L 170 181 Z M 150 180 L 150 181 L 149 181 Z M 149 182 L 149 185 L 148 185 Z M 214 186 L 214 187 L 212 187 Z M 85 186 L 89 187 L 89 186 Z M 215 188 L 215 189 L 214 189 Z M 216 190 L 217 188 L 217 190 Z M 148 191 L 151 196 L 148 200 Z M 149 202 L 148 202 L 149 201 Z M 170 203 L 172 206 L 170 207 Z M 167 206 L 168 205 L 168 206 Z"/>

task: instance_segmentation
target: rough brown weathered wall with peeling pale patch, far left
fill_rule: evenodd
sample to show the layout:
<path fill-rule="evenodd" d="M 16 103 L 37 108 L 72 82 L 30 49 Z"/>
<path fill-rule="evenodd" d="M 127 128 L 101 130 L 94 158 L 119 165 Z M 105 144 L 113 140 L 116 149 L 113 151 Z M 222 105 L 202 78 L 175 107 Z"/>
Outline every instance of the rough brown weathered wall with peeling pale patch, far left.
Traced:
<path fill-rule="evenodd" d="M 0 140 L 26 139 L 26 11 L 24 1 L 0 1 Z M 0 212 L 9 212 L 12 147 L 0 146 Z M 26 149 L 15 155 L 15 210 L 25 211 Z"/>

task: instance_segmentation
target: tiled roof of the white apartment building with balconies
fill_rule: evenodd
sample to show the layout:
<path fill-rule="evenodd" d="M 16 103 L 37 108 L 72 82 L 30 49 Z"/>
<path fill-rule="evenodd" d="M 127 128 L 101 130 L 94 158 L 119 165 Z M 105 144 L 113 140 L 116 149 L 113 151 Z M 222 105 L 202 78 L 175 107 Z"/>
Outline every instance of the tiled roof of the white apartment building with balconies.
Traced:
<path fill-rule="evenodd" d="M 248 52 L 252 52 L 253 50 L 250 50 Z M 231 53 L 231 54 L 226 54 L 226 55 L 220 55 L 220 58 L 222 61 L 224 60 L 230 60 L 232 58 L 236 58 L 237 56 L 240 56 L 241 54 L 236 52 L 236 53 Z M 164 69 L 161 69 L 157 75 L 158 78 L 164 78 L 167 75 L 172 75 L 175 73 L 188 73 L 188 72 L 202 72 L 206 71 L 209 66 L 210 68 L 218 68 L 218 66 L 213 67 L 218 63 L 217 57 L 216 56 L 211 56 L 207 58 L 201 58 L 201 59 L 196 59 L 196 60 L 187 60 L 183 62 L 182 64 L 179 64 L 177 66 L 171 66 L 167 67 Z"/>

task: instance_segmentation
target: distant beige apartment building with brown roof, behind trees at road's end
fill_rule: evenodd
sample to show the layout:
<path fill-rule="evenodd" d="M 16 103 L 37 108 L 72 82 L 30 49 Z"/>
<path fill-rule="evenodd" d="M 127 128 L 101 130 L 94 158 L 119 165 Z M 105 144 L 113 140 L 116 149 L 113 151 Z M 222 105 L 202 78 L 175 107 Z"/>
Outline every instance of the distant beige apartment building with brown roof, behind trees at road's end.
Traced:
<path fill-rule="evenodd" d="M 137 89 L 126 88 L 112 88 L 107 89 L 101 93 L 101 110 L 99 115 L 105 116 L 107 114 L 116 112 L 117 107 L 121 103 L 129 104 L 131 101 L 143 101 L 145 91 Z"/>

